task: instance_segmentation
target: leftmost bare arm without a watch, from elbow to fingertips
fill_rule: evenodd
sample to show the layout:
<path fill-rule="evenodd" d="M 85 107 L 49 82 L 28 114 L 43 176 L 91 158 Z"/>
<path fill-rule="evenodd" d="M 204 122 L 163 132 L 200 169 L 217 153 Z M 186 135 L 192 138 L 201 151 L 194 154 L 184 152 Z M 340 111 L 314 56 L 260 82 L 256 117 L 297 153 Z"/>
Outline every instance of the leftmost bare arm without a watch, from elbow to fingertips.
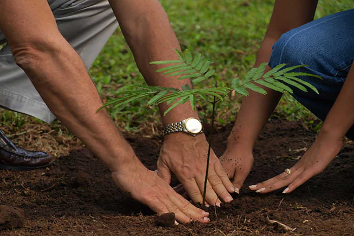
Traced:
<path fill-rule="evenodd" d="M 102 105 L 96 88 L 46 0 L 1 1 L 0 29 L 52 113 L 112 169 L 120 188 L 159 214 L 175 212 L 181 222 L 207 215 L 142 165 L 104 109 L 96 113 Z"/>

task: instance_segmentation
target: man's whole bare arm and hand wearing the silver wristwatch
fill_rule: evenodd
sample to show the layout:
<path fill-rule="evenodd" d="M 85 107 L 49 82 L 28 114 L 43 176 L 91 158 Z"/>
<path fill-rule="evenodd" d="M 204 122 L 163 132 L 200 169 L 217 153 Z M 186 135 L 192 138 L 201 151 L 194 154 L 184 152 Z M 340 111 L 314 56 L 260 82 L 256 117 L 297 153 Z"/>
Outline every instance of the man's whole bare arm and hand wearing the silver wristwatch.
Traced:
<path fill-rule="evenodd" d="M 177 80 L 176 77 L 161 76 L 155 73 L 158 65 L 149 65 L 151 61 L 178 59 L 174 48 L 180 50 L 166 12 L 158 0 L 110 0 L 113 11 L 119 21 L 122 32 L 134 54 L 139 70 L 149 85 L 181 88 L 190 84 L 190 80 Z M 178 105 L 166 116 L 169 106 L 160 105 L 164 125 L 182 121 L 188 117 L 198 118 L 190 103 Z M 196 137 L 185 133 L 171 133 L 165 136 L 158 160 L 158 173 L 170 183 L 170 170 L 184 185 L 194 202 L 202 201 L 206 169 L 207 142 L 204 134 Z M 232 201 L 234 187 L 229 181 L 216 155 L 212 152 L 206 200 L 211 205 L 221 201 Z"/>

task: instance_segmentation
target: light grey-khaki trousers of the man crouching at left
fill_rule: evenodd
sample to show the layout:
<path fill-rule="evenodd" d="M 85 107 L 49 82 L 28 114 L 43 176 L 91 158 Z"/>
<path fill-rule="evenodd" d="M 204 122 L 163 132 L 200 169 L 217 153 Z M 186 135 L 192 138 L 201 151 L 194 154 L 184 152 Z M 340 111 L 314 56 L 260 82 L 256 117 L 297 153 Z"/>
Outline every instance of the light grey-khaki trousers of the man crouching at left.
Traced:
<path fill-rule="evenodd" d="M 107 0 L 47 0 L 58 29 L 89 69 L 118 22 Z M 0 31 L 0 43 L 6 42 Z M 0 107 L 28 114 L 45 122 L 56 117 L 48 109 L 6 45 L 0 51 Z"/>

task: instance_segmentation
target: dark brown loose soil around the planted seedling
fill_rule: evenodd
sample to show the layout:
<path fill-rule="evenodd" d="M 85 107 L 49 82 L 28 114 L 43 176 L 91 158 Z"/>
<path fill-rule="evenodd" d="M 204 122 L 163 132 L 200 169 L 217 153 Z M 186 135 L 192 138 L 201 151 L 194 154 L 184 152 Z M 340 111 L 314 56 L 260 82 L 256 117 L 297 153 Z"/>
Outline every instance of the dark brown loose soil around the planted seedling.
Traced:
<path fill-rule="evenodd" d="M 217 155 L 230 129 L 217 129 Z M 270 121 L 255 146 L 245 186 L 291 167 L 314 138 L 301 123 Z M 162 137 L 127 140 L 144 165 L 155 169 Z M 244 188 L 232 203 L 208 209 L 210 224 L 167 228 L 157 226 L 152 211 L 118 190 L 109 170 L 89 151 L 75 150 L 47 169 L 0 171 L 0 204 L 6 205 L 0 207 L 0 235 L 354 235 L 353 156 L 354 144 L 347 141 L 324 172 L 289 195 L 260 195 Z M 269 220 L 296 229 L 289 232 Z"/>

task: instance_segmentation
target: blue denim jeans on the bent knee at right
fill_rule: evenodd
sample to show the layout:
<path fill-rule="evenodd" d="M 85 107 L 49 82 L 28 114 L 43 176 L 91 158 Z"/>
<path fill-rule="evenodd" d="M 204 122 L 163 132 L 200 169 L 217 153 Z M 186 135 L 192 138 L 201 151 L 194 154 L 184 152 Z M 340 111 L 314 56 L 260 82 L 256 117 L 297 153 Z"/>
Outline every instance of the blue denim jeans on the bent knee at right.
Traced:
<path fill-rule="evenodd" d="M 292 87 L 292 96 L 323 121 L 341 91 L 353 59 L 354 9 L 322 17 L 283 34 L 273 45 L 269 66 L 306 64 L 309 67 L 293 72 L 306 72 L 323 78 L 299 77 L 314 85 L 319 94 Z M 354 104 L 354 101 L 348 102 Z M 354 139 L 354 126 L 347 137 Z"/>

